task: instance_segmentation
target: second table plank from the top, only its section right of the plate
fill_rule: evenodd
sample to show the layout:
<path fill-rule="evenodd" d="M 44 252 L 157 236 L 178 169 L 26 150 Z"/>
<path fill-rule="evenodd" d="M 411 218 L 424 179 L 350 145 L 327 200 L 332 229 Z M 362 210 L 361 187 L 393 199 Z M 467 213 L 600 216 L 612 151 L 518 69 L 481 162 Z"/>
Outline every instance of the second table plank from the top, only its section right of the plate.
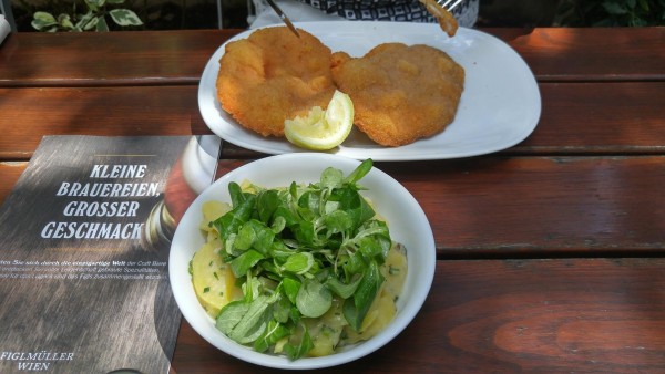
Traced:
<path fill-rule="evenodd" d="M 541 83 L 541 120 L 511 154 L 663 154 L 665 82 Z"/>

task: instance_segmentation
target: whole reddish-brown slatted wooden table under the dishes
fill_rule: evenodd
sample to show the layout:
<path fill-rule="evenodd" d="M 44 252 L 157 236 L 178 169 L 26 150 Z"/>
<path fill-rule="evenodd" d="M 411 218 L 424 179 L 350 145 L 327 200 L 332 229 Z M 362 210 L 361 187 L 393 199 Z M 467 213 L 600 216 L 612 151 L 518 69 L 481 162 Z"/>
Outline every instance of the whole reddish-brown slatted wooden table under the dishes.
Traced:
<path fill-rule="evenodd" d="M 0 200 L 43 135 L 209 134 L 197 84 L 241 30 L 17 33 L 0 46 Z M 437 243 L 422 310 L 327 372 L 665 372 L 665 28 L 490 29 L 535 74 L 542 117 L 492 155 L 377 163 Z M 265 155 L 224 145 L 221 173 Z M 186 323 L 177 373 L 269 372 Z"/>

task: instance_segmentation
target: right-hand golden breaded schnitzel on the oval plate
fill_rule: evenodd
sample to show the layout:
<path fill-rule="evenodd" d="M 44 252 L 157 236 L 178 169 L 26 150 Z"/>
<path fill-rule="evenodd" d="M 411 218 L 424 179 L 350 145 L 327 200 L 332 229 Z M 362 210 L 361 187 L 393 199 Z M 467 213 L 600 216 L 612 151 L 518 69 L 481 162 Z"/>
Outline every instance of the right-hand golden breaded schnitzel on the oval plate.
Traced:
<path fill-rule="evenodd" d="M 464 70 L 443 51 L 383 43 L 362 58 L 337 52 L 332 59 L 335 83 L 354 101 L 354 122 L 372 141 L 400 146 L 453 121 Z"/>

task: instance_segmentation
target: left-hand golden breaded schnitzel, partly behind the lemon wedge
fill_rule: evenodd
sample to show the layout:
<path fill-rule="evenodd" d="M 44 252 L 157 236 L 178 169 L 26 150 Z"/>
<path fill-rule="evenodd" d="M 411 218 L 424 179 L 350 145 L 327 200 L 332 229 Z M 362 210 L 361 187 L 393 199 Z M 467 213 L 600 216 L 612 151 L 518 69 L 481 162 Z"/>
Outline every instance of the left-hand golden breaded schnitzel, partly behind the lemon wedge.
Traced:
<path fill-rule="evenodd" d="M 286 27 L 254 31 L 226 44 L 217 97 L 241 125 L 263 136 L 283 136 L 284 121 L 326 107 L 336 86 L 330 49 L 316 37 Z"/>

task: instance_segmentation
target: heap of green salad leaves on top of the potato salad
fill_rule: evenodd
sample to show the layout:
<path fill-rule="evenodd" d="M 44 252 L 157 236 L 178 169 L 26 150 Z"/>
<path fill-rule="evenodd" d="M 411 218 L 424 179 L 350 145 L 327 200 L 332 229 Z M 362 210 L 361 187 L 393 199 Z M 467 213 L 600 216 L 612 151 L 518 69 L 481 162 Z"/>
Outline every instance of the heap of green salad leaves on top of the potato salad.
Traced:
<path fill-rule="evenodd" d="M 318 183 L 284 188 L 229 183 L 233 208 L 211 226 L 244 298 L 222 308 L 219 331 L 258 352 L 279 345 L 297 360 L 313 347 L 303 319 L 320 318 L 334 299 L 344 302 L 348 325 L 360 330 L 392 243 L 361 194 L 359 181 L 371 167 L 367 159 L 346 177 L 328 167 Z"/>

